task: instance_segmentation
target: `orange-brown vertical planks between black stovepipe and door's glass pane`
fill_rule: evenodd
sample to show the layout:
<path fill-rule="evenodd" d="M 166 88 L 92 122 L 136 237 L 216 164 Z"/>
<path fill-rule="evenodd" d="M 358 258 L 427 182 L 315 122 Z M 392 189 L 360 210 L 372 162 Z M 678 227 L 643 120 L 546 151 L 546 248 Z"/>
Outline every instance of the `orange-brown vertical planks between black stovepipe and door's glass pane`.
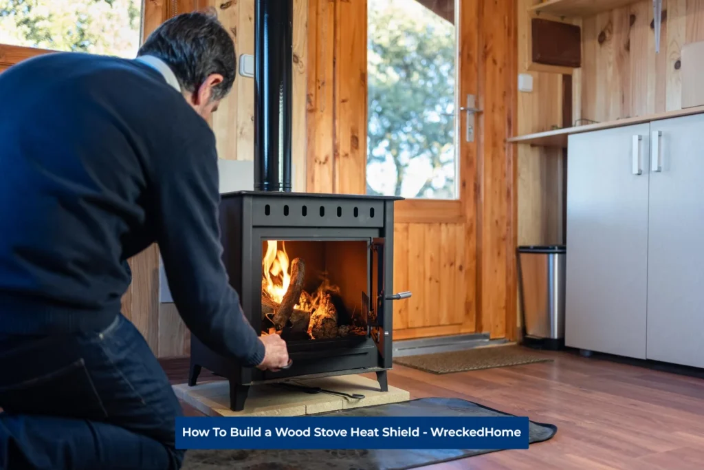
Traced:
<path fill-rule="evenodd" d="M 367 1 L 308 0 L 306 190 L 365 194 Z"/>

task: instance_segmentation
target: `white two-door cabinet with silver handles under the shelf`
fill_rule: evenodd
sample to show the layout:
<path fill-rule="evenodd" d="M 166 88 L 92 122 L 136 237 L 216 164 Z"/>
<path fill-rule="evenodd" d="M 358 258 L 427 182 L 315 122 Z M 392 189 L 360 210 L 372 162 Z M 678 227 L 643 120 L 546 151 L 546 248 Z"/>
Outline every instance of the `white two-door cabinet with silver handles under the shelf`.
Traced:
<path fill-rule="evenodd" d="M 704 115 L 569 139 L 565 344 L 704 367 Z"/>

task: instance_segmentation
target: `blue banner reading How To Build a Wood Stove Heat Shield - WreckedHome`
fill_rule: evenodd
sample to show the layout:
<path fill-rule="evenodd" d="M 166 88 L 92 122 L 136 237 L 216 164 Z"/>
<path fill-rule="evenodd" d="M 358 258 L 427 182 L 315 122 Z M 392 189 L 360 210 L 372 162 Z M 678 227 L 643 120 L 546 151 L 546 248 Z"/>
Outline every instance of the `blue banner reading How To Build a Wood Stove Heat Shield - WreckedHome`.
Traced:
<path fill-rule="evenodd" d="M 528 448 L 527 417 L 178 418 L 177 449 Z"/>

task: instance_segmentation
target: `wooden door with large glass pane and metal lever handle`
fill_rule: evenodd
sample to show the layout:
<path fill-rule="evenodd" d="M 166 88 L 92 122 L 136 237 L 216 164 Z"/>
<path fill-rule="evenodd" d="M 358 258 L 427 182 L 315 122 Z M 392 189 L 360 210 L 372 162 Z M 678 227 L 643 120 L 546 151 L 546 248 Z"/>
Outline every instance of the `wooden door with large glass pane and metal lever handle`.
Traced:
<path fill-rule="evenodd" d="M 398 21 L 394 31 L 384 26 L 386 17 Z M 367 194 L 407 198 L 394 209 L 394 290 L 413 296 L 394 302 L 394 339 L 476 331 L 471 227 L 477 139 L 465 138 L 467 113 L 460 111 L 467 94 L 478 93 L 476 30 L 474 1 L 367 0 Z M 403 38 L 410 40 L 396 41 Z M 427 49 L 408 45 L 399 54 L 391 46 L 415 41 Z M 409 76 L 387 85 L 386 67 L 399 74 L 410 68 Z M 446 73 L 435 71 L 443 68 Z M 429 80 L 432 89 L 424 85 Z M 472 117 L 477 135 L 479 119 Z M 451 151 L 443 155 L 433 147 Z M 395 174 L 382 169 L 389 161 Z"/>

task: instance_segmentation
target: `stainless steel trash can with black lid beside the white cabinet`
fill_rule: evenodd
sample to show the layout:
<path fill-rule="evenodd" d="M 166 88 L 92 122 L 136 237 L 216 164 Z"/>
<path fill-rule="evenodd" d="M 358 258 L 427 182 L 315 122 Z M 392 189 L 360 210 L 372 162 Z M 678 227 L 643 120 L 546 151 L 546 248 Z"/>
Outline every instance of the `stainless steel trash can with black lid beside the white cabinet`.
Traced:
<path fill-rule="evenodd" d="M 564 245 L 518 247 L 523 344 L 559 350 L 565 346 Z"/>

